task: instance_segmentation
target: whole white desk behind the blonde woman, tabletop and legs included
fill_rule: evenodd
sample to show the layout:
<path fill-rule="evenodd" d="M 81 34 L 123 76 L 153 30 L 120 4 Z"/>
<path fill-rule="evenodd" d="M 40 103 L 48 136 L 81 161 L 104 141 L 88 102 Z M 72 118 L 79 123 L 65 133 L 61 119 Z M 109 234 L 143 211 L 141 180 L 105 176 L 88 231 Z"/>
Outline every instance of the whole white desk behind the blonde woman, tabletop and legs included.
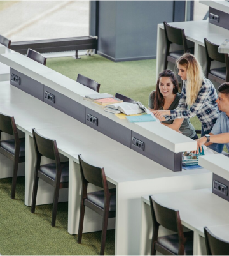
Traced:
<path fill-rule="evenodd" d="M 184 29 L 185 36 L 188 40 L 193 41 L 195 45 L 195 57 L 205 70 L 206 56 L 204 49 L 204 38 L 221 45 L 226 38 L 229 38 L 229 30 L 216 26 L 208 22 L 208 20 L 188 21 L 188 22 L 172 22 L 170 26 Z M 165 63 L 165 31 L 163 24 L 158 24 L 158 38 L 156 50 L 156 77 L 162 72 Z M 176 48 L 174 48 L 176 50 Z M 172 51 L 172 47 L 171 50 Z M 212 66 L 213 67 L 213 66 Z M 174 70 L 174 68 L 172 68 Z"/>

